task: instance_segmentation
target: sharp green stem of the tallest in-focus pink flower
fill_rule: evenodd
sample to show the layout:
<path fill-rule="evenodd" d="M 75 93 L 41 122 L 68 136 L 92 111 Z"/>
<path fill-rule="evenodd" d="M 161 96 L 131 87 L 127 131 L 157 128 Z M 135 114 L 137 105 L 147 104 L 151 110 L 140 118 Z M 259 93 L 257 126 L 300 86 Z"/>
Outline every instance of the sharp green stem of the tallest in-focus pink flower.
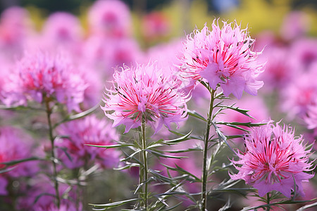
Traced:
<path fill-rule="evenodd" d="M 211 119 L 213 113 L 213 101 L 215 101 L 215 93 L 216 90 L 211 91 L 211 99 L 210 99 L 210 106 L 209 106 L 209 114 L 207 119 L 207 126 L 206 126 L 206 135 L 204 137 L 204 164 L 203 164 L 203 178 L 202 178 L 202 185 L 201 185 L 201 210 L 205 211 L 207 207 L 207 154 L 208 154 L 208 145 L 209 145 L 209 132 L 211 127 Z"/>

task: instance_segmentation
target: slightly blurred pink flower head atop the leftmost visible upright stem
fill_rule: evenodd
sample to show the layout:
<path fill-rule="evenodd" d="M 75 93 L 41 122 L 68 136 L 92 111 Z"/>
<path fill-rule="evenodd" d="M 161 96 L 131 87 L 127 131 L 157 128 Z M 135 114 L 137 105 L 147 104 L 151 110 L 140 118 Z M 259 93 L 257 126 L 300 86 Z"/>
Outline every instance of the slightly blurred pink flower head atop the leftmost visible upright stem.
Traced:
<path fill-rule="evenodd" d="M 18 63 L 18 87 L 25 98 L 41 103 L 43 98 L 56 98 L 68 111 L 80 111 L 87 84 L 73 69 L 65 55 L 29 53 Z"/>

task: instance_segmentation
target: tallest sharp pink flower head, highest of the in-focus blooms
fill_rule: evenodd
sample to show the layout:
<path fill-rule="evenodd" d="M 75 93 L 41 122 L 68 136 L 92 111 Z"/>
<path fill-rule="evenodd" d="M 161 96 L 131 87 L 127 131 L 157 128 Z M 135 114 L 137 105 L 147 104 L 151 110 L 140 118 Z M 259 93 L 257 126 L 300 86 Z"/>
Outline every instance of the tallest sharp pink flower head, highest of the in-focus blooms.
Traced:
<path fill-rule="evenodd" d="M 256 77 L 263 71 L 263 64 L 257 63 L 258 53 L 251 51 L 254 39 L 249 37 L 247 28 L 240 30 L 240 25 L 223 22 L 220 29 L 213 20 L 212 30 L 205 25 L 199 31 L 189 34 L 184 42 L 180 61 L 180 71 L 183 77 L 206 79 L 212 89 L 217 85 L 223 89 L 223 94 L 231 93 L 241 98 L 246 91 L 256 95 L 263 82 Z"/>

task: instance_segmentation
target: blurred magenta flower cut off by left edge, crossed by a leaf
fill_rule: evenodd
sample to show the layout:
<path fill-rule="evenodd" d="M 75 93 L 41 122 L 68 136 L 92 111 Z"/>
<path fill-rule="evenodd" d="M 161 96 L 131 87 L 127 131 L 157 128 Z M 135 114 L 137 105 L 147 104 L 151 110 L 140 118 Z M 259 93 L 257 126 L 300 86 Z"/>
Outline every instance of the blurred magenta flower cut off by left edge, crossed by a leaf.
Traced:
<path fill-rule="evenodd" d="M 0 169 L 6 165 L 1 162 L 10 162 L 32 157 L 32 139 L 22 130 L 14 127 L 0 128 Z M 14 166 L 9 166 L 12 170 L 0 174 L 0 195 L 8 194 L 6 186 L 8 179 L 33 176 L 38 168 L 37 162 L 23 162 Z"/>

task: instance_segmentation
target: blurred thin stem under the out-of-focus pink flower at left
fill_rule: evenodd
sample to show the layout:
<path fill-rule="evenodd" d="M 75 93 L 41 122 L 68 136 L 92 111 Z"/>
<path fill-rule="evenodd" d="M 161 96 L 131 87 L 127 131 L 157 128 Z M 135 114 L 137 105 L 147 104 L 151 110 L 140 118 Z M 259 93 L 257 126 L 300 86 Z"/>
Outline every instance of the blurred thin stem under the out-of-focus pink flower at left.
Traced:
<path fill-rule="evenodd" d="M 58 192 L 58 181 L 57 181 L 57 170 L 56 170 L 56 158 L 55 158 L 55 151 L 54 151 L 54 136 L 53 136 L 53 127 L 51 124 L 51 108 L 49 107 L 49 98 L 45 98 L 46 104 L 46 114 L 47 114 L 47 121 L 49 122 L 49 140 L 51 141 L 51 162 L 53 164 L 53 177 L 54 177 L 54 187 L 56 192 L 56 199 L 57 199 L 57 207 L 59 208 L 61 205 L 61 199 Z"/>

